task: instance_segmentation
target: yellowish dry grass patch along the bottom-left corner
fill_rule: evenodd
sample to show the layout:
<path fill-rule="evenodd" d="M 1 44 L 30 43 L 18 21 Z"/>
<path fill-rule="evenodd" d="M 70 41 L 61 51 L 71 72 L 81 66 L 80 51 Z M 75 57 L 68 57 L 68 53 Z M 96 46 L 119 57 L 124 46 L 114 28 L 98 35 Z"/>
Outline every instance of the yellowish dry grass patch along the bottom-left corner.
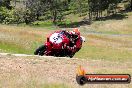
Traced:
<path fill-rule="evenodd" d="M 11 69 L 10 69 L 11 70 Z M 30 69 L 29 69 L 30 70 Z M 60 82 L 46 82 L 43 79 L 37 79 L 34 75 L 27 76 L 26 79 L 23 79 L 20 75 L 22 73 L 17 73 L 12 71 L 9 74 L 1 74 L 0 77 L 0 87 L 9 87 L 9 88 L 69 88 L 69 85 L 60 83 Z M 22 74 L 24 75 L 24 74 Z M 32 78 L 30 78 L 32 76 Z M 72 88 L 70 86 L 70 88 Z"/>

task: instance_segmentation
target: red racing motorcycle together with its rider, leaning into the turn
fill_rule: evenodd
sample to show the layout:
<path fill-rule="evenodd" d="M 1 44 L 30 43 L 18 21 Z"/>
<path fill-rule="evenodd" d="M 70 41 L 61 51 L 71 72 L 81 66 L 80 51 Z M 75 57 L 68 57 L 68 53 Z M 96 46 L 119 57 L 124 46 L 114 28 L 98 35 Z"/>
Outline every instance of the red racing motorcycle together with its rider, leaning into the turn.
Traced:
<path fill-rule="evenodd" d="M 77 28 L 72 31 L 57 30 L 47 36 L 47 41 L 38 47 L 34 54 L 72 58 L 81 49 L 83 40 Z"/>

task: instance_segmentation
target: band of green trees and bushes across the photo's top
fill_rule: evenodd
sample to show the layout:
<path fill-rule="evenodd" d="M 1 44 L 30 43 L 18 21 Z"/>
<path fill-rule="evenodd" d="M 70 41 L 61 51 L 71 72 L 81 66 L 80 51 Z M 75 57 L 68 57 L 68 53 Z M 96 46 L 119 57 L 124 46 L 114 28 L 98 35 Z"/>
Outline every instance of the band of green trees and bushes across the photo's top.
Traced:
<path fill-rule="evenodd" d="M 89 15 L 89 19 L 100 19 L 105 11 L 106 16 L 116 14 L 117 5 L 124 0 L 1 0 L 0 3 L 1 23 L 31 24 L 50 20 L 56 25 L 69 14 Z M 124 7 L 131 8 L 130 4 L 131 0 L 125 0 Z"/>

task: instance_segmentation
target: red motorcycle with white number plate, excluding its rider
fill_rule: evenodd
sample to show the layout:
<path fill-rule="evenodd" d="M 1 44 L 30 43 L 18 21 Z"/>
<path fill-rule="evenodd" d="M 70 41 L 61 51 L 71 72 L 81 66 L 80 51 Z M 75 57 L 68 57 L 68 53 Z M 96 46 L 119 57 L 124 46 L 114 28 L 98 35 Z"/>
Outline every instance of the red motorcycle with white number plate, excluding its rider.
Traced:
<path fill-rule="evenodd" d="M 47 37 L 47 41 L 44 45 L 35 50 L 34 54 L 72 58 L 76 52 L 71 52 L 66 48 L 70 44 L 70 37 L 71 36 L 67 35 L 65 31 L 54 32 Z M 80 41 L 83 42 L 84 37 L 81 37 Z"/>

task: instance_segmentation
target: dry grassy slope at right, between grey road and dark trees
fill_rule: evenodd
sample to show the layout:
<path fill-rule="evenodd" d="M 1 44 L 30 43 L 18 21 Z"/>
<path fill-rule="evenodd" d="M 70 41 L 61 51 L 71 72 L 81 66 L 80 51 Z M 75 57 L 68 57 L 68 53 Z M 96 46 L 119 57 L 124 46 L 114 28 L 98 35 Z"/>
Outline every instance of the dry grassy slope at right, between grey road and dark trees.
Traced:
<path fill-rule="evenodd" d="M 95 31 L 109 34 L 132 34 L 132 12 L 126 13 L 122 19 L 108 19 L 95 21 L 88 27 L 81 27 L 82 31 Z M 120 16 L 117 16 L 120 18 Z"/>

